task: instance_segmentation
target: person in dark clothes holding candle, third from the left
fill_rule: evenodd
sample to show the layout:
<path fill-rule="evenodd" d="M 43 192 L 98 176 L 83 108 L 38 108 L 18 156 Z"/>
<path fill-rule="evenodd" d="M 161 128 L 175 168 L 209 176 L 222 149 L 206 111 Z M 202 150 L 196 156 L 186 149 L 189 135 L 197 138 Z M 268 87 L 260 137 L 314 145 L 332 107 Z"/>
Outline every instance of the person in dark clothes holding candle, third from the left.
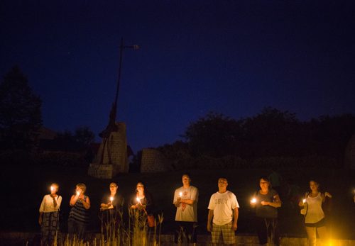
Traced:
<path fill-rule="evenodd" d="M 117 192 L 119 186 L 116 183 L 111 182 L 109 189 L 110 193 L 104 196 L 102 203 L 100 204 L 102 222 L 106 225 L 116 225 L 121 217 L 119 212 L 121 211 L 123 201 Z"/>

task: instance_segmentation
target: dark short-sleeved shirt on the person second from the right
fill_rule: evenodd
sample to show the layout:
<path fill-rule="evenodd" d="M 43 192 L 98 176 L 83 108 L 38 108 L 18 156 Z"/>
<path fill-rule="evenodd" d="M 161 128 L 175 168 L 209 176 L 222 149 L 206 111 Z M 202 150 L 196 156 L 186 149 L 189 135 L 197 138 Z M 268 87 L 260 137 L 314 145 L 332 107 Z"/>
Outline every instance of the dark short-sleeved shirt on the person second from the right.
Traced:
<path fill-rule="evenodd" d="M 273 206 L 263 206 L 261 201 L 273 202 L 275 196 L 278 193 L 274 189 L 270 189 L 268 194 L 260 194 L 260 191 L 256 193 L 256 216 L 260 218 L 278 218 L 278 209 Z"/>

